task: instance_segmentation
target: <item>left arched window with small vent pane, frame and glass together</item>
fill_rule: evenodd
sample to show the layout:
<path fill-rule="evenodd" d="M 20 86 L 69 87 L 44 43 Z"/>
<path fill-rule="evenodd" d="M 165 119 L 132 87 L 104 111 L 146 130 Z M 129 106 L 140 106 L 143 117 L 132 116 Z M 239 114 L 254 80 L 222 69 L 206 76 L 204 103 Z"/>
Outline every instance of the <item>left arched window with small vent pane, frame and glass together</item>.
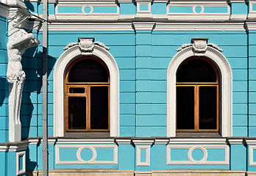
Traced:
<path fill-rule="evenodd" d="M 65 75 L 65 132 L 110 131 L 110 74 L 96 56 L 76 59 Z"/>

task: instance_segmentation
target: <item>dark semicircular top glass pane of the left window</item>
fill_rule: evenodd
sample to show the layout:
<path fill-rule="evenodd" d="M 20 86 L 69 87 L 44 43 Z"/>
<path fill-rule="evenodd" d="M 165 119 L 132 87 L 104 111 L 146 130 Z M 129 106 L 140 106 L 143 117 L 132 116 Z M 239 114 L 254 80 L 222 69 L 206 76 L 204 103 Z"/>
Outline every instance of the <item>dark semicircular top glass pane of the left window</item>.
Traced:
<path fill-rule="evenodd" d="M 108 74 L 102 63 L 83 59 L 71 67 L 68 82 L 107 82 Z"/>

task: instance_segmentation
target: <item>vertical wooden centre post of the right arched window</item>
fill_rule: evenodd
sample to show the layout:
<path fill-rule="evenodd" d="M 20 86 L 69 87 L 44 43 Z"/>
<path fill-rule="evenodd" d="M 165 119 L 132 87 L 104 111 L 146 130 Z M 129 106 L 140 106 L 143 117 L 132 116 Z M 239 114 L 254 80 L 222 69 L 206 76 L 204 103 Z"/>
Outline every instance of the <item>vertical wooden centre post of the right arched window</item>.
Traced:
<path fill-rule="evenodd" d="M 194 91 L 194 128 L 199 131 L 199 86 L 195 86 Z"/>

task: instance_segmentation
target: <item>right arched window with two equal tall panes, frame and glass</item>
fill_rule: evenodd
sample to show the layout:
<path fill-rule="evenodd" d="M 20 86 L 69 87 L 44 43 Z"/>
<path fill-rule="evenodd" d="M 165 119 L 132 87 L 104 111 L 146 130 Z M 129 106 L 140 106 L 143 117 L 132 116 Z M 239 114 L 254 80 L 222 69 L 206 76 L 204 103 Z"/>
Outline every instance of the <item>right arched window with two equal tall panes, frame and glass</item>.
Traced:
<path fill-rule="evenodd" d="M 177 70 L 177 131 L 219 131 L 219 76 L 204 57 L 192 56 Z"/>

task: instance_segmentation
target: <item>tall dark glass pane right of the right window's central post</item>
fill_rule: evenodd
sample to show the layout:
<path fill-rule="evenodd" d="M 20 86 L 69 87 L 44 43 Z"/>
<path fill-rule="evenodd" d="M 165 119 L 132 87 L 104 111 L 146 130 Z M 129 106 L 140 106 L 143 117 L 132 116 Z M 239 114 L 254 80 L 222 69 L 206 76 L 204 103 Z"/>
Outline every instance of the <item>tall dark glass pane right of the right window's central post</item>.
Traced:
<path fill-rule="evenodd" d="M 217 87 L 199 87 L 199 128 L 216 129 Z"/>

